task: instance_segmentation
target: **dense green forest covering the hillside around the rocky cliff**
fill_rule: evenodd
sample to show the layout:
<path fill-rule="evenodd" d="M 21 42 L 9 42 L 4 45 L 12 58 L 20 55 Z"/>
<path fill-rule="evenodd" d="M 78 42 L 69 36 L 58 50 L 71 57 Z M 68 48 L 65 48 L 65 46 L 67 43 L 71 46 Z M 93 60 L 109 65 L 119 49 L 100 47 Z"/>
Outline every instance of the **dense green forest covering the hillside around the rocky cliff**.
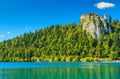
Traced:
<path fill-rule="evenodd" d="M 0 43 L 0 61 L 98 61 L 120 60 L 120 22 L 97 40 L 81 24 L 52 25 Z"/>

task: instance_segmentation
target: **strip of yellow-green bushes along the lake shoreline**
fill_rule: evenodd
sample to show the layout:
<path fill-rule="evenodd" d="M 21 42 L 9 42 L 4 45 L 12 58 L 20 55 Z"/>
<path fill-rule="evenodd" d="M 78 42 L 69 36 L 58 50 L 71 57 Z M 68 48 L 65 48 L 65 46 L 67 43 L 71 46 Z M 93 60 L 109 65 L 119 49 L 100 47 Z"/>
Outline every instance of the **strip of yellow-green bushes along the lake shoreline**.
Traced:
<path fill-rule="evenodd" d="M 119 59 L 96 58 L 96 57 L 81 58 L 80 56 L 61 56 L 61 57 L 45 56 L 40 58 L 32 57 L 31 59 L 15 58 L 11 61 L 12 62 L 120 62 Z M 4 61 L 4 62 L 9 62 L 9 61 Z"/>

